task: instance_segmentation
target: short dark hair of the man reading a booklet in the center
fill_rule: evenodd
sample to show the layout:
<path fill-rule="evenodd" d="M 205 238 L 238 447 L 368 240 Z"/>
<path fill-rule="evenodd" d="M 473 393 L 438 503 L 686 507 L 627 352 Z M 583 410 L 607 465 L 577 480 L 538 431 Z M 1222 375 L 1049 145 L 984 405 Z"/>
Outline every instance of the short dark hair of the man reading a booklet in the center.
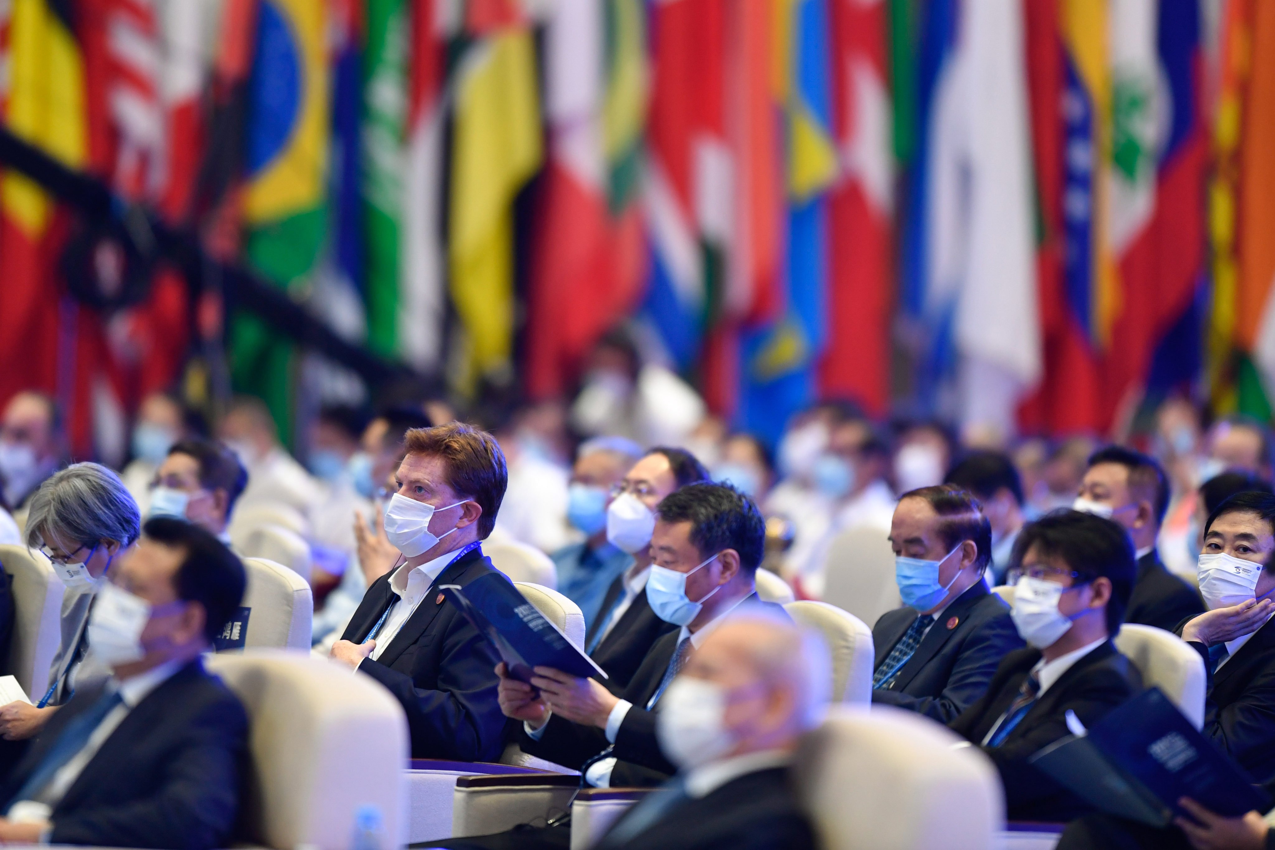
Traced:
<path fill-rule="evenodd" d="M 680 487 L 664 497 L 655 514 L 666 522 L 690 522 L 691 543 L 701 557 L 734 549 L 745 572 L 757 571 L 766 548 L 766 521 L 752 500 L 729 484 Z"/>

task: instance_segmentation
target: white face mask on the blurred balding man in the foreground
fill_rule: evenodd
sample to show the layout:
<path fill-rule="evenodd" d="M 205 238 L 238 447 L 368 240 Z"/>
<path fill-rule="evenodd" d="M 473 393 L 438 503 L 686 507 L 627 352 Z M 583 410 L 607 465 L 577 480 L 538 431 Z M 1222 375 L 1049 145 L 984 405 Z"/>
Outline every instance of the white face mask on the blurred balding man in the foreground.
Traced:
<path fill-rule="evenodd" d="M 727 693 L 722 686 L 680 675 L 659 698 L 655 737 L 659 749 L 682 770 L 722 758 L 734 746 L 725 729 Z"/>

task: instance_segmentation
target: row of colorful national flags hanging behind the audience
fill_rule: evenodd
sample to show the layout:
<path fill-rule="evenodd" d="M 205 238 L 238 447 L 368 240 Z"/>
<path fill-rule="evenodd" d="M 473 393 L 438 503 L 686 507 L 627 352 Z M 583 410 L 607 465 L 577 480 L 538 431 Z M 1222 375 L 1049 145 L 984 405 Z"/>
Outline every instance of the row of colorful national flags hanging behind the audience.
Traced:
<path fill-rule="evenodd" d="M 462 395 L 564 396 L 630 322 L 766 440 L 1275 399 L 1265 0 L 10 0 L 0 54 L 13 133 Z M 0 403 L 110 456 L 217 321 L 84 229 L 0 177 Z M 231 307 L 289 433 L 303 358 Z"/>

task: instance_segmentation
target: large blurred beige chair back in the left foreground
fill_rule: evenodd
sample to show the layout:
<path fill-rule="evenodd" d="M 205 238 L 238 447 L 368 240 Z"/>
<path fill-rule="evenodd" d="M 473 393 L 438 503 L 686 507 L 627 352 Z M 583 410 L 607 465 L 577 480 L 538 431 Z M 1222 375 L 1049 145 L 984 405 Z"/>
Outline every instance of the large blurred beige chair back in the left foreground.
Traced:
<path fill-rule="evenodd" d="M 247 710 L 250 774 L 237 844 L 346 850 L 362 807 L 375 807 L 382 846 L 405 844 L 403 707 L 375 681 L 309 655 L 215 655 L 217 673 Z"/>

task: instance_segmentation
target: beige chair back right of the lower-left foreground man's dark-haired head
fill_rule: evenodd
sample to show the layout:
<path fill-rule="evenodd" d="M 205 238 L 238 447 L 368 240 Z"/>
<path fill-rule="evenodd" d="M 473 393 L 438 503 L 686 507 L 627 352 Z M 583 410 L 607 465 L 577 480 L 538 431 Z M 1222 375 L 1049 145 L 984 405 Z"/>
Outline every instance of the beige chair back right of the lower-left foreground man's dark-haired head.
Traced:
<path fill-rule="evenodd" d="M 247 587 L 242 607 L 249 609 L 247 622 L 242 623 L 247 630 L 244 649 L 309 652 L 315 613 L 310 585 L 292 570 L 265 558 L 244 558 L 244 568 Z"/>

